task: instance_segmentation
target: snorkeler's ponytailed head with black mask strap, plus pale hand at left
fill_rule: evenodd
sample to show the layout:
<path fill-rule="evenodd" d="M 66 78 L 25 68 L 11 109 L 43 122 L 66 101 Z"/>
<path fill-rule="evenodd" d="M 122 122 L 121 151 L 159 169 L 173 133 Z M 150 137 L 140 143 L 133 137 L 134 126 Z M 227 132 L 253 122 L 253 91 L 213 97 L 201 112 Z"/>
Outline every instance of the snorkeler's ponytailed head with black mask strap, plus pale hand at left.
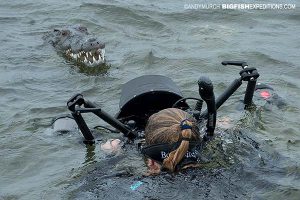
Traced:
<path fill-rule="evenodd" d="M 197 148 L 201 141 L 196 120 L 187 112 L 168 108 L 151 115 L 142 150 L 148 175 L 159 174 L 162 169 L 173 172 L 198 167 Z M 108 154 L 117 154 L 121 145 L 120 139 L 109 139 L 101 144 L 101 149 Z"/>

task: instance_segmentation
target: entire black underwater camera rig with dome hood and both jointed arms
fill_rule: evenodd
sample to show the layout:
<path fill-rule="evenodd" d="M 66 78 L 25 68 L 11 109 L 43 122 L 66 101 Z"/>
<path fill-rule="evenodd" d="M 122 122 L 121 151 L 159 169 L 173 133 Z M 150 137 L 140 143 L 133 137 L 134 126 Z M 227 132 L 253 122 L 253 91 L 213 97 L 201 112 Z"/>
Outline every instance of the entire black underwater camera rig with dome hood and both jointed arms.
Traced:
<path fill-rule="evenodd" d="M 207 120 L 205 138 L 211 138 L 216 125 L 217 109 L 241 86 L 242 81 L 248 82 L 244 97 L 245 109 L 252 105 L 253 93 L 259 74 L 255 68 L 249 68 L 246 62 L 224 61 L 223 65 L 237 65 L 243 69 L 240 77 L 233 80 L 231 85 L 215 100 L 213 84 L 207 77 L 198 80 L 200 98 L 184 98 L 179 87 L 168 77 L 161 75 L 145 75 L 132 79 L 122 86 L 119 108 L 115 117 L 106 113 L 96 104 L 84 99 L 82 94 L 72 96 L 67 107 L 76 121 L 85 143 L 93 144 L 94 136 L 82 117 L 82 113 L 93 113 L 130 140 L 143 137 L 141 134 L 148 118 L 160 110 L 176 107 L 193 114 L 195 119 Z M 197 100 L 192 109 L 186 103 L 187 99 Z M 201 113 L 202 101 L 207 110 Z"/>

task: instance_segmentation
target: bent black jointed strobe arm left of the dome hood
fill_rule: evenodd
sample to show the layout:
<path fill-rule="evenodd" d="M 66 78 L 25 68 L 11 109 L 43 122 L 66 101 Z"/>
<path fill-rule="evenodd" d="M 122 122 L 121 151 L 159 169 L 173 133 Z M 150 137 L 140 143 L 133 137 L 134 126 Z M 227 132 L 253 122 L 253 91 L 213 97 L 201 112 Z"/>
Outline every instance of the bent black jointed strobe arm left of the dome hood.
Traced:
<path fill-rule="evenodd" d="M 82 132 L 85 143 L 94 143 L 94 137 L 88 128 L 86 122 L 84 121 L 81 113 L 93 113 L 100 117 L 102 120 L 118 129 L 120 132 L 124 134 L 124 136 L 129 139 L 133 139 L 136 137 L 136 133 L 121 123 L 119 120 L 110 116 L 108 113 L 103 111 L 101 108 L 97 108 L 97 106 L 89 101 L 86 101 L 83 98 L 83 95 L 76 94 L 70 98 L 67 102 L 68 109 L 72 111 L 72 116 L 74 117 L 80 131 Z M 82 108 L 83 107 L 83 108 Z"/>

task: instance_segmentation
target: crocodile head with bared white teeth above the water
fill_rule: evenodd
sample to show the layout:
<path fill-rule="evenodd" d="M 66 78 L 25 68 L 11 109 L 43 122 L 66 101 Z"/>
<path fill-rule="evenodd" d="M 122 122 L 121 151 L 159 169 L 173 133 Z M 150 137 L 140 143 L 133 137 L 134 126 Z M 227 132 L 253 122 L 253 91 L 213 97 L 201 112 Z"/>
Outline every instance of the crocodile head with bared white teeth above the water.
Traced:
<path fill-rule="evenodd" d="M 94 67 L 105 63 L 105 44 L 91 35 L 85 26 L 55 28 L 47 32 L 43 39 L 79 65 Z"/>

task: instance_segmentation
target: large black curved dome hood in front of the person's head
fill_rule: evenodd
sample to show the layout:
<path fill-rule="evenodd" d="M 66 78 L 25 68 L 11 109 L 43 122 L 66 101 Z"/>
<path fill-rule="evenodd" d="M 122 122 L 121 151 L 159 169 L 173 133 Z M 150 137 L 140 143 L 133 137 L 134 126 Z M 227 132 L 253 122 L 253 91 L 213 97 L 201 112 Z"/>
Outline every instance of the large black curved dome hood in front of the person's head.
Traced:
<path fill-rule="evenodd" d="M 165 108 L 171 108 L 183 98 L 178 86 L 168 77 L 146 75 L 132 79 L 122 86 L 120 111 L 116 118 L 122 123 L 136 123 L 138 129 L 144 129 L 148 118 Z M 188 109 L 186 102 L 178 106 Z"/>

